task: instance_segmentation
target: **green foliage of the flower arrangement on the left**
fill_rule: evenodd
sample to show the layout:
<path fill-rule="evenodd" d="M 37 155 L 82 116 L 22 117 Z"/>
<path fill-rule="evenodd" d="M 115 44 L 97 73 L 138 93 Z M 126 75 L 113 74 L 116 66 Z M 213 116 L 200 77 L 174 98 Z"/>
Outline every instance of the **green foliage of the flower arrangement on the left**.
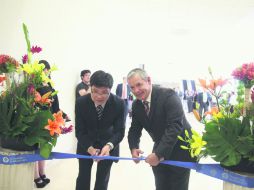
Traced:
<path fill-rule="evenodd" d="M 47 147 L 51 148 L 43 150 L 43 156 L 48 157 L 55 146 L 56 136 L 51 137 L 45 126 L 53 116 L 49 109 L 40 110 L 33 105 L 33 96 L 27 92 L 27 88 L 26 82 L 19 85 L 12 83 L 12 90 L 1 96 L 0 136 L 22 138 L 29 146 L 38 144 L 44 147 L 48 144 Z"/>

